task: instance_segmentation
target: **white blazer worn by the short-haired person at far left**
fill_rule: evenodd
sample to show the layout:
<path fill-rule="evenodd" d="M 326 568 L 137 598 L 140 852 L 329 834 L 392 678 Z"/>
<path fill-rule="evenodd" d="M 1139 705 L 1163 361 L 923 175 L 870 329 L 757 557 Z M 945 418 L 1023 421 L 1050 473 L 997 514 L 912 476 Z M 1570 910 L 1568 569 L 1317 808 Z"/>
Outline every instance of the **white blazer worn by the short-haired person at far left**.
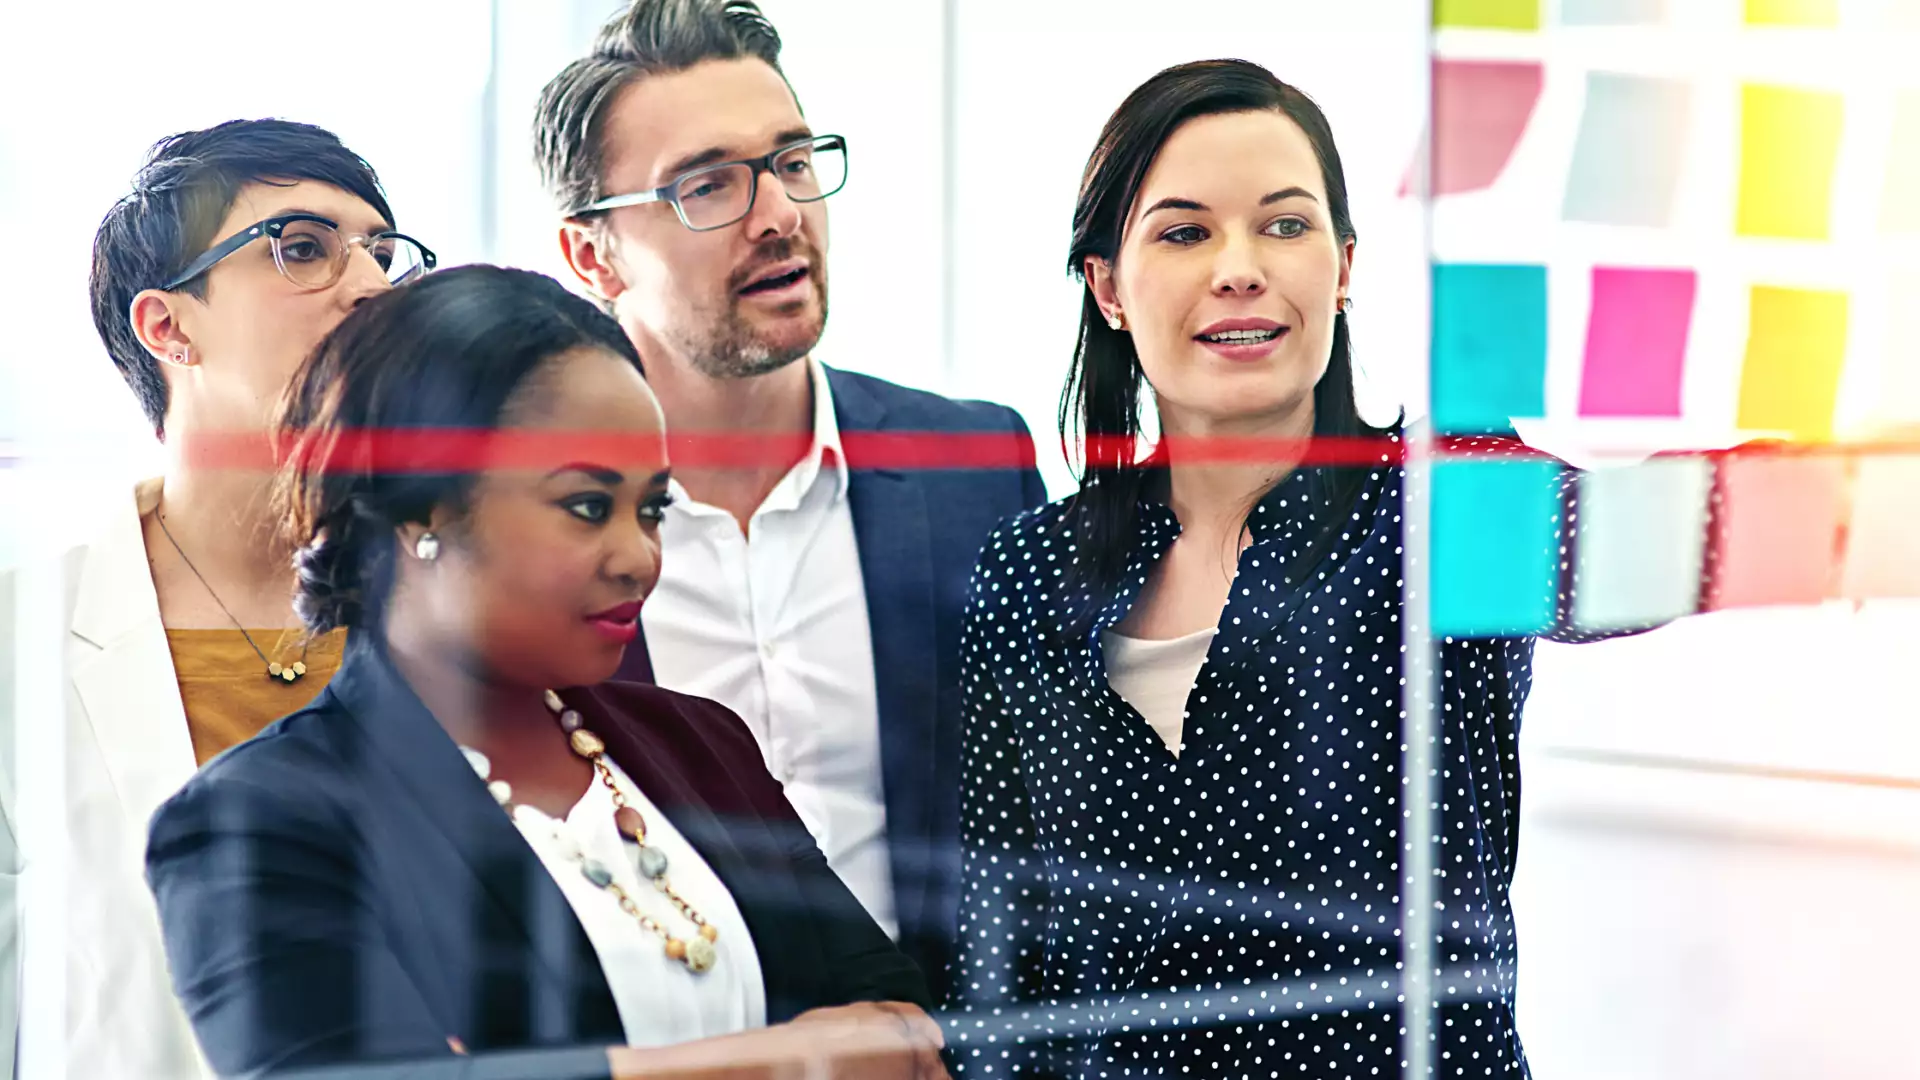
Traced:
<path fill-rule="evenodd" d="M 31 986 L 17 986 L 23 955 L 60 949 L 67 1076 L 204 1080 L 213 1072 L 173 995 L 146 888 L 148 819 L 198 765 L 140 534 L 140 513 L 159 500 L 159 480 L 132 494 L 109 507 L 92 542 L 63 555 L 67 619 L 46 628 L 65 636 L 65 940 L 35 936 L 31 909 L 19 911 L 19 936 L 0 924 L 0 1061 L 12 1059 L 19 1003 L 33 997 Z M 13 653 L 17 619 L 4 607 L 17 594 L 15 582 L 0 582 L 0 655 Z M 46 721 L 0 713 L 8 757 L 13 724 Z M 15 778 L 0 778 L 0 917 L 19 907 L 21 886 L 33 882 L 33 836 L 48 836 L 15 844 L 21 815 L 38 813 L 15 805 L 17 790 Z"/>

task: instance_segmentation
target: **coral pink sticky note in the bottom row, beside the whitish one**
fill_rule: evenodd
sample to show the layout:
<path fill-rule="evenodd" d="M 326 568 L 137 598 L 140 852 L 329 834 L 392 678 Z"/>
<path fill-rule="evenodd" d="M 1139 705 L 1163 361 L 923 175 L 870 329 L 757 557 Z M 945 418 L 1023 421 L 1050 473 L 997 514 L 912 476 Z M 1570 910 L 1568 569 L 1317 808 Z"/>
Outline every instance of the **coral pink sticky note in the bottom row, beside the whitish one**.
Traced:
<path fill-rule="evenodd" d="M 1826 600 L 1837 569 L 1845 475 L 1834 454 L 1722 459 L 1707 607 Z"/>

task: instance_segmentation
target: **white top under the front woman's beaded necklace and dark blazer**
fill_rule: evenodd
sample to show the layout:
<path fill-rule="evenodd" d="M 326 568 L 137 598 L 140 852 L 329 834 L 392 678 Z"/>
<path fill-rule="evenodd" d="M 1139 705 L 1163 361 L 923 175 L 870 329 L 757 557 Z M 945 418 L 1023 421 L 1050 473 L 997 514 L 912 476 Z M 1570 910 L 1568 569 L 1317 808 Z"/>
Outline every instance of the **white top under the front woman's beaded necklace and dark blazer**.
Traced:
<path fill-rule="evenodd" d="M 513 822 L 561 886 L 599 955 L 628 1045 L 670 1045 L 764 1028 L 766 984 L 760 955 L 733 894 L 639 786 L 612 761 L 607 765 L 628 805 L 647 821 L 647 844 L 666 853 L 666 878 L 674 892 L 720 932 L 714 967 L 693 974 L 666 957 L 666 942 L 659 934 L 641 926 L 611 892 L 580 872 L 580 861 L 566 855 L 568 836 L 580 851 L 611 869 L 626 896 L 670 934 L 691 938 L 699 932 L 666 894 L 641 880 L 632 846 L 612 822 L 612 794 L 599 776 L 566 813 L 566 821 L 555 821 L 536 807 L 515 807 Z"/>

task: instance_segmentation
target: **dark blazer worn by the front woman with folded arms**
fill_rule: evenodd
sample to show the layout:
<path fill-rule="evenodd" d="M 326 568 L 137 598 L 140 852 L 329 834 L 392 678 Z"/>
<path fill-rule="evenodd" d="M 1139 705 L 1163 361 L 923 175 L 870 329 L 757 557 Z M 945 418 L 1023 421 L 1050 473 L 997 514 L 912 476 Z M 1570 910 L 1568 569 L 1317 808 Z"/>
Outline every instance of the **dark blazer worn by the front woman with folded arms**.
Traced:
<path fill-rule="evenodd" d="M 768 1022 L 927 1003 L 739 717 L 655 686 L 568 701 L 732 890 Z M 175 990 L 223 1074 L 438 1057 L 444 1072 L 401 1074 L 605 1076 L 605 1047 L 624 1042 L 566 897 L 372 634 L 313 705 L 154 815 L 148 882 Z M 451 1057 L 447 1036 L 480 1057 Z M 488 1057 L 528 1049 L 541 1053 Z"/>

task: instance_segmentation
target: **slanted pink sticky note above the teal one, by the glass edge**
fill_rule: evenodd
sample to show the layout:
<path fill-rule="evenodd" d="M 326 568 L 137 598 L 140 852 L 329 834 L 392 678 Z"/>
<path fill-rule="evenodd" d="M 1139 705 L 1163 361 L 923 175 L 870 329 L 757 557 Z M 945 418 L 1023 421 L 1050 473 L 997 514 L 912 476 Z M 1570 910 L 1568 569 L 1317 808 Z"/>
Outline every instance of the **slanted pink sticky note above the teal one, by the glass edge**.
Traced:
<path fill-rule="evenodd" d="M 1494 186 L 1526 121 L 1540 104 L 1540 63 L 1436 60 L 1427 146 L 1432 154 L 1432 194 L 1476 192 Z M 1400 194 L 1419 190 L 1415 156 Z"/>

